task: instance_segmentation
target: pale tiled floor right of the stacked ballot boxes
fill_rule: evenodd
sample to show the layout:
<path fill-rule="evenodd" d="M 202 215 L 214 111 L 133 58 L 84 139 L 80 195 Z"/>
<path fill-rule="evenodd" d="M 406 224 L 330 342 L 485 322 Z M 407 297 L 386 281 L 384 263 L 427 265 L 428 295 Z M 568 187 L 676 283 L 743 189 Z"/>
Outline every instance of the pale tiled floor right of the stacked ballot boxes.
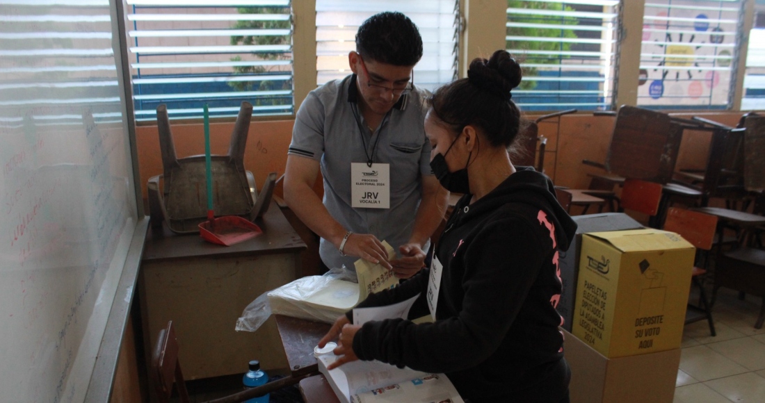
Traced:
<path fill-rule="evenodd" d="M 675 403 L 765 402 L 765 327 L 754 328 L 762 299 L 721 289 L 706 320 L 685 326 Z"/>

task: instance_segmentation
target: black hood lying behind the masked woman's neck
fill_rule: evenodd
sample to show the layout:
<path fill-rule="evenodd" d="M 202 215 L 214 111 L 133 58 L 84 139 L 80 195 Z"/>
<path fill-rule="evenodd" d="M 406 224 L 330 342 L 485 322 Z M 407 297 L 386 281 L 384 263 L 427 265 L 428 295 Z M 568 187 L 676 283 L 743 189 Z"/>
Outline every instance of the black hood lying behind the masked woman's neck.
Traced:
<path fill-rule="evenodd" d="M 457 215 L 455 224 L 458 226 L 467 223 L 473 217 L 483 217 L 487 212 L 497 209 L 512 208 L 507 206 L 508 203 L 528 204 L 545 211 L 547 219 L 555 226 L 558 249 L 568 250 L 577 225 L 558 203 L 552 180 L 532 167 L 516 167 L 516 170 L 516 173 L 507 177 L 500 186 L 473 204 L 470 204 L 472 195 L 466 194 L 461 197 L 454 206 L 454 213 Z"/>

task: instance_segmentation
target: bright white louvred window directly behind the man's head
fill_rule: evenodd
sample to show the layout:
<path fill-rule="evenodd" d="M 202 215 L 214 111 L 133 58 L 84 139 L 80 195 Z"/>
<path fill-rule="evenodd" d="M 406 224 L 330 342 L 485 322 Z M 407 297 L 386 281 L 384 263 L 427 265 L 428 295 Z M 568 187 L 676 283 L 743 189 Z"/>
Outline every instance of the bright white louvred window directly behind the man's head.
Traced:
<path fill-rule="evenodd" d="M 348 53 L 356 50 L 356 31 L 381 11 L 402 12 L 420 31 L 423 54 L 415 85 L 432 90 L 457 78 L 457 0 L 316 0 L 317 86 L 351 73 Z"/>

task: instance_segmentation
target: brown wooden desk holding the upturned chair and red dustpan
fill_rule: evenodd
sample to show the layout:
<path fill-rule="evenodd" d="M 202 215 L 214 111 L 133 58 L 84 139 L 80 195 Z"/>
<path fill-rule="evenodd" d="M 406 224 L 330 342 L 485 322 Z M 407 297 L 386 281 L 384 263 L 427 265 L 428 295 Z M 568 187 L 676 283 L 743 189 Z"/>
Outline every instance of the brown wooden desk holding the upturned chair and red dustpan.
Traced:
<path fill-rule="evenodd" d="M 287 366 L 274 320 L 256 332 L 234 330 L 256 297 L 295 280 L 305 249 L 274 202 L 256 223 L 260 236 L 227 247 L 167 226 L 148 235 L 138 278 L 146 362 L 173 320 L 186 379 L 246 372 L 250 359 L 264 369 Z"/>

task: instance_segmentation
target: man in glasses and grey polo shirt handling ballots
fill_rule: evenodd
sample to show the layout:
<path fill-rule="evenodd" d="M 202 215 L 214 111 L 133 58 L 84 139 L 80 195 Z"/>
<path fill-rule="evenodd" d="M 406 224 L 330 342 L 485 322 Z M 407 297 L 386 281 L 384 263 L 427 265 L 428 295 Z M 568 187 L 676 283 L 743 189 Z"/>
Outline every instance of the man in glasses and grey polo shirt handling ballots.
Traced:
<path fill-rule="evenodd" d="M 425 261 L 447 193 L 431 173 L 427 94 L 412 84 L 422 38 L 401 13 L 363 22 L 353 74 L 311 91 L 295 118 L 285 201 L 321 236 L 329 268 L 364 258 L 409 278 Z M 321 168 L 324 201 L 313 190 Z M 399 256 L 388 261 L 382 240 Z"/>

